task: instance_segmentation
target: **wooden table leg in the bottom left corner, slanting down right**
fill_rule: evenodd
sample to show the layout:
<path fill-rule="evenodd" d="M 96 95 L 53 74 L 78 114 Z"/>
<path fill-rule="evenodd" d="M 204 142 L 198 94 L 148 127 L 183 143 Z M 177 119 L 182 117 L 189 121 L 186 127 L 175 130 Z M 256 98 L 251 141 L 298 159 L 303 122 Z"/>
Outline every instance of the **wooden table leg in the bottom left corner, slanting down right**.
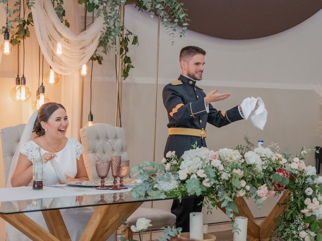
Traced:
<path fill-rule="evenodd" d="M 42 226 L 33 221 L 24 213 L 0 214 L 4 220 L 9 222 L 27 237 L 35 241 L 59 241 L 53 234 L 46 231 Z"/>

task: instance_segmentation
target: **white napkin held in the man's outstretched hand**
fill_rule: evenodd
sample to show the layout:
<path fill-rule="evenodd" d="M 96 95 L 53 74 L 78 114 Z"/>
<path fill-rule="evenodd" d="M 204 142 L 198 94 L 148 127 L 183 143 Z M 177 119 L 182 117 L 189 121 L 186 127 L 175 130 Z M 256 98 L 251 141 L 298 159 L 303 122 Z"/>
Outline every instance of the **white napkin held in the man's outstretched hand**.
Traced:
<path fill-rule="evenodd" d="M 268 112 L 261 97 L 248 97 L 241 102 L 240 107 L 243 110 L 245 119 L 251 117 L 253 125 L 258 129 L 264 130 Z"/>

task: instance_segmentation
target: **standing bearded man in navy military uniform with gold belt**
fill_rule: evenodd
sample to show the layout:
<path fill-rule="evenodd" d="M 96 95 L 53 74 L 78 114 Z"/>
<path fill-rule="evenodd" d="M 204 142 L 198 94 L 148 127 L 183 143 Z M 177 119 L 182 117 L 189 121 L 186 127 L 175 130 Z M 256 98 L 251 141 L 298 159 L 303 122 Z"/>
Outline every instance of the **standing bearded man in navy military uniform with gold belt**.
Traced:
<path fill-rule="evenodd" d="M 196 46 L 187 46 L 180 51 L 181 75 L 178 80 L 167 84 L 163 89 L 163 101 L 169 118 L 169 137 L 164 156 L 176 151 L 176 155 L 190 150 L 197 143 L 206 147 L 207 122 L 215 127 L 223 127 L 244 118 L 239 105 L 227 110 L 215 109 L 211 103 L 224 100 L 229 93 L 219 94 L 215 89 L 208 94 L 196 82 L 202 79 L 206 52 Z M 171 211 L 177 216 L 177 227 L 189 231 L 189 213 L 201 212 L 203 197 L 174 200 Z"/>

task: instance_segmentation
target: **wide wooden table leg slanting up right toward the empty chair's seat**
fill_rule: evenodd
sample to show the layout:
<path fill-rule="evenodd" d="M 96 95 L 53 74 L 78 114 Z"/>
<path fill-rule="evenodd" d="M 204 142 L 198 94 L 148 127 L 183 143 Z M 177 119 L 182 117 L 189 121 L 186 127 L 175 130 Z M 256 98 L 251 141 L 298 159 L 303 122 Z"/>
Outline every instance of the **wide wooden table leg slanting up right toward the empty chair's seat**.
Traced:
<path fill-rule="evenodd" d="M 106 240 L 143 202 L 97 206 L 80 241 Z"/>

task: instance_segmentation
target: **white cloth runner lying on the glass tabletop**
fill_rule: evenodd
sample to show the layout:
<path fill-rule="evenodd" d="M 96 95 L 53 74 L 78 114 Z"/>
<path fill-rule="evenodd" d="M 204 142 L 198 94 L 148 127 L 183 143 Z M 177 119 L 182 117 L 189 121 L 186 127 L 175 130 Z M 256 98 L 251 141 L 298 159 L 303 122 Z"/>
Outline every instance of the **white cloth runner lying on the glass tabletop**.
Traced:
<path fill-rule="evenodd" d="M 10 188 L 0 188 L 0 202 L 29 200 L 29 199 L 38 199 L 38 198 L 109 194 L 109 193 L 129 192 L 131 191 L 131 189 L 132 188 L 123 189 L 123 190 L 98 190 L 96 188 L 71 187 L 68 185 L 44 186 L 43 190 L 33 190 L 31 186 L 10 187 Z"/>

